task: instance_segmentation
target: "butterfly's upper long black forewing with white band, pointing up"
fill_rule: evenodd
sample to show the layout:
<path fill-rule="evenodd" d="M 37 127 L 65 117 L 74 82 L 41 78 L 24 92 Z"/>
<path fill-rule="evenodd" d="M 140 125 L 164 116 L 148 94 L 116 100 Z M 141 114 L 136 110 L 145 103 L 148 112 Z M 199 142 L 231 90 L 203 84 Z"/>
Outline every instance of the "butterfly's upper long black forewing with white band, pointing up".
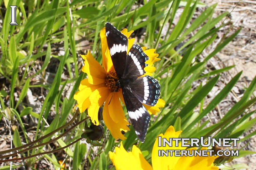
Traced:
<path fill-rule="evenodd" d="M 128 39 L 109 22 L 106 23 L 106 37 L 114 69 L 121 79 L 126 65 Z"/>

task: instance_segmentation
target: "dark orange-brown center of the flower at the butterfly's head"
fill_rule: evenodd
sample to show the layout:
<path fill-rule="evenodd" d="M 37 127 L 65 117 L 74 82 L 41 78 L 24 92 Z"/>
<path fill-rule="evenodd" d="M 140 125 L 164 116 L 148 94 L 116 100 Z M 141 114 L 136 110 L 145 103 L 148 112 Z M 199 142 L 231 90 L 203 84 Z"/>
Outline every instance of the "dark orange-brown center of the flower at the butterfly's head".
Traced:
<path fill-rule="evenodd" d="M 110 89 L 110 92 L 119 91 L 120 87 L 116 86 L 116 83 L 118 81 L 118 77 L 116 74 L 116 71 L 110 71 L 107 73 L 107 77 L 105 80 L 106 86 Z"/>

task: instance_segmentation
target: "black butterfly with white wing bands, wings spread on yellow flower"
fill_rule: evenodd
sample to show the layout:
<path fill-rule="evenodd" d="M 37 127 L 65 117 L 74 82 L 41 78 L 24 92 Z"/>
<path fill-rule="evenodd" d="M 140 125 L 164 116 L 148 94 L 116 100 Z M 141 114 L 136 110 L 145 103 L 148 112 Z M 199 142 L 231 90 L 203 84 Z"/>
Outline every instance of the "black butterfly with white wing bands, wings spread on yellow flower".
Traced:
<path fill-rule="evenodd" d="M 107 44 L 114 69 L 119 80 L 117 87 L 122 88 L 124 103 L 139 140 L 144 142 L 149 126 L 150 115 L 142 103 L 155 106 L 160 96 L 160 84 L 145 74 L 144 68 L 149 60 L 142 48 L 134 44 L 127 55 L 128 39 L 111 23 L 106 23 Z"/>

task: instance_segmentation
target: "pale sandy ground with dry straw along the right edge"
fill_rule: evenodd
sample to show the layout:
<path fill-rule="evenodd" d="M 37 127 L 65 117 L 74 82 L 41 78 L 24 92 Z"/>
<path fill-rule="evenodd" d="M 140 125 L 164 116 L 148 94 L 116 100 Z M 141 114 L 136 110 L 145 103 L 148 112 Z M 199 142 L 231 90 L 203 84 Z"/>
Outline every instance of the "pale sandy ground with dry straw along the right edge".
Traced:
<path fill-rule="evenodd" d="M 228 71 L 228 73 L 222 75 L 224 79 L 223 82 L 229 82 L 229 80 L 234 77 L 241 70 L 243 71 L 240 81 L 233 88 L 234 94 L 239 94 L 239 90 L 248 87 L 250 81 L 256 76 L 256 1 L 255 0 L 205 0 L 204 3 L 207 6 L 218 3 L 215 16 L 220 15 L 225 11 L 229 11 L 230 17 L 229 21 L 233 24 L 230 29 L 230 35 L 233 34 L 237 29 L 242 28 L 240 33 L 236 38 L 231 41 L 228 45 L 214 56 L 213 60 L 210 61 L 213 67 L 216 69 L 218 67 L 223 68 L 227 66 L 236 65 L 234 68 Z M 235 8 L 234 8 L 235 7 Z M 230 25 L 224 27 L 227 30 Z M 220 33 L 219 40 L 222 38 L 222 33 Z M 218 39 L 215 41 L 218 42 Z M 214 45 L 213 45 L 214 46 Z M 209 49 L 209 52 L 211 49 Z M 255 95 L 256 93 L 254 93 Z M 233 95 L 231 98 L 227 96 L 228 100 L 236 101 L 239 100 L 239 95 Z M 227 99 L 225 99 L 227 100 Z M 234 102 L 235 102 L 234 101 Z M 220 103 L 220 106 L 223 102 Z M 232 103 L 230 103 L 232 105 Z M 255 107 L 254 107 L 255 109 Z M 223 109 L 225 113 L 225 109 Z M 252 115 L 255 118 L 256 115 Z M 253 130 L 256 129 L 256 126 Z M 250 132 L 245 132 L 248 135 Z M 244 147 L 244 150 L 256 152 L 256 137 L 253 136 L 250 140 L 242 142 L 239 144 L 238 148 Z M 243 170 L 255 170 L 256 169 L 256 154 L 250 156 L 234 159 L 227 166 L 233 166 L 233 164 L 244 164 Z"/>

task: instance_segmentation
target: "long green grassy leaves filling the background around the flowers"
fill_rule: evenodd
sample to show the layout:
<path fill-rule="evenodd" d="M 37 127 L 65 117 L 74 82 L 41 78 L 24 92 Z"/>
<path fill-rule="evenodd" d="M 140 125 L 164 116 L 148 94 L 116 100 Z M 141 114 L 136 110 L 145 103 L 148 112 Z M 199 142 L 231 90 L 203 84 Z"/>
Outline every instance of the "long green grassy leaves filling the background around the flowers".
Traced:
<path fill-rule="evenodd" d="M 239 29 L 230 36 L 225 34 L 213 52 L 203 60 L 199 58 L 203 50 L 215 40 L 216 33 L 228 24 L 222 22 L 228 16 L 228 12 L 216 18 L 213 17 L 216 4 L 206 8 L 196 19 L 193 19 L 193 16 L 197 7 L 205 6 L 198 0 L 151 0 L 143 1 L 142 4 L 138 1 L 128 0 L 74 0 L 71 3 L 66 0 L 30 1 L 30 3 L 13 0 L 0 1 L 0 4 L 6 8 L 5 14 L 2 10 L 0 13 L 3 19 L 0 34 L 0 75 L 6 82 L 4 91 L 0 89 L 2 111 L 0 118 L 6 117 L 2 113 L 10 110 L 12 116 L 9 119 L 12 120 L 12 124 L 18 125 L 18 129 L 14 132 L 14 141 L 25 140 L 26 143 L 30 141 L 27 136 L 28 125 L 24 123 L 25 119 L 23 118 L 25 115 L 30 115 L 38 121 L 38 124 L 34 124 L 36 129 L 33 140 L 37 140 L 69 122 L 69 116 L 73 116 L 72 109 L 75 106 L 73 96 L 78 91 L 80 81 L 86 77 L 80 71 L 81 60 L 78 54 L 84 51 L 80 51 L 79 42 L 84 42 L 81 37 L 88 40 L 92 54 L 97 61 L 101 62 L 99 33 L 105 27 L 106 21 L 111 22 L 120 30 L 122 28 L 127 28 L 128 31 L 144 28 L 144 39 L 139 44 L 146 46 L 147 49 L 155 48 L 161 58 L 161 61 L 154 65 L 156 71 L 153 77 L 157 78 L 161 84 L 160 97 L 165 100 L 166 106 L 158 115 L 151 117 L 152 121 L 146 140 L 143 144 L 138 143 L 138 147 L 143 151 L 146 159 L 151 158 L 151 151 L 148 148 L 152 148 L 159 132 L 165 132 L 170 125 L 174 125 L 176 130 L 182 130 L 182 137 L 213 135 L 216 138 L 236 138 L 255 125 L 254 119 L 249 121 L 250 115 L 255 111 L 248 108 L 256 101 L 256 98 L 252 97 L 256 78 L 252 80 L 249 87 L 245 87 L 240 101 L 218 123 L 208 124 L 209 120 L 201 122 L 201 119 L 228 95 L 241 76 L 241 72 L 238 73 L 204 108 L 204 101 L 217 83 L 220 74 L 233 67 L 204 74 L 207 61 L 232 41 L 240 31 Z M 9 24 L 11 12 L 9 5 L 18 6 L 16 8 L 18 26 Z M 172 28 L 179 8 L 183 9 L 181 16 Z M 215 27 L 219 22 L 222 24 Z M 165 26 L 168 26 L 166 34 L 163 33 Z M 181 43 L 183 45 L 178 50 L 174 50 Z M 59 50 L 63 50 L 65 53 L 63 55 L 56 54 L 56 51 Z M 58 69 L 54 73 L 52 83 L 47 83 L 45 81 L 46 69 L 50 67 L 49 63 L 54 58 L 59 63 L 54 67 L 58 67 Z M 37 68 L 38 65 L 39 68 Z M 63 72 L 66 73 L 66 80 L 62 79 Z M 41 78 L 44 81 L 34 84 L 32 83 L 34 78 Z M 203 79 L 206 80 L 206 84 L 201 83 L 192 89 L 193 82 Z M 73 89 L 69 97 L 66 97 L 63 92 L 68 84 L 71 84 Z M 29 89 L 40 89 L 44 94 L 40 112 L 35 112 L 27 106 L 25 97 Z M 15 97 L 16 94 L 18 97 Z M 18 109 L 18 106 L 23 109 Z M 194 112 L 196 107 L 199 107 L 199 112 Z M 51 114 L 55 114 L 55 116 L 52 117 Z M 243 117 L 239 117 L 241 114 Z M 86 117 L 86 114 L 81 113 L 77 119 L 80 121 Z M 53 118 L 53 120 L 50 120 L 49 126 L 46 126 L 49 118 Z M 84 127 L 85 123 L 81 123 L 54 144 L 64 147 L 74 142 L 81 136 Z M 127 139 L 123 141 L 125 149 L 129 149 L 134 143 L 137 143 L 131 126 L 130 129 L 131 131 L 125 134 Z M 18 135 L 17 131 L 22 133 Z M 57 137 L 63 132 L 64 130 L 61 130 L 58 135 L 52 134 L 43 142 L 47 142 L 52 136 Z M 252 135 L 255 135 L 255 131 L 245 136 L 240 142 Z M 64 155 L 69 159 L 66 164 L 72 166 L 73 169 L 82 169 L 84 166 L 87 169 L 114 169 L 108 152 L 113 151 L 120 141 L 115 140 L 105 128 L 105 138 L 101 140 L 101 143 L 103 143 L 102 147 L 92 150 L 92 146 L 88 149 L 88 145 L 77 142 L 72 148 L 65 150 Z M 16 142 L 14 145 L 15 147 L 21 146 L 21 142 Z M 41 146 L 33 149 L 31 153 L 28 152 L 27 155 L 42 153 L 46 150 Z M 250 151 L 240 152 L 242 155 L 252 154 Z M 87 156 L 84 158 L 84 155 Z M 44 157 L 55 168 L 61 168 L 54 154 L 45 154 Z M 28 159 L 27 166 L 36 164 L 39 159 Z M 17 164 L 15 167 L 19 166 L 21 165 Z M 15 167 L 13 166 L 13 168 Z M 8 167 L 0 169 L 5 168 Z"/>

